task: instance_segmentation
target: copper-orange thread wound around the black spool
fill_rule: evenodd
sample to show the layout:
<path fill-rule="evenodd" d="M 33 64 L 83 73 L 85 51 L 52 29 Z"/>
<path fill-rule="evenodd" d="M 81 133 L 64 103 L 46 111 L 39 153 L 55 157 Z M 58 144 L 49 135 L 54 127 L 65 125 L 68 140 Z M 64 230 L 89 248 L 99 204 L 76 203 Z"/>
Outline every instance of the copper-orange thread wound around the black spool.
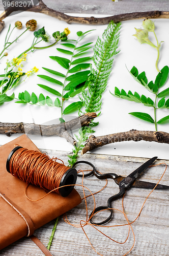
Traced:
<path fill-rule="evenodd" d="M 58 163 L 57 158 L 50 159 L 46 154 L 38 151 L 19 148 L 11 157 L 9 163 L 10 173 L 26 182 L 40 186 L 49 191 L 59 188 L 63 175 L 70 167 Z M 59 159 L 60 160 L 60 159 Z"/>

